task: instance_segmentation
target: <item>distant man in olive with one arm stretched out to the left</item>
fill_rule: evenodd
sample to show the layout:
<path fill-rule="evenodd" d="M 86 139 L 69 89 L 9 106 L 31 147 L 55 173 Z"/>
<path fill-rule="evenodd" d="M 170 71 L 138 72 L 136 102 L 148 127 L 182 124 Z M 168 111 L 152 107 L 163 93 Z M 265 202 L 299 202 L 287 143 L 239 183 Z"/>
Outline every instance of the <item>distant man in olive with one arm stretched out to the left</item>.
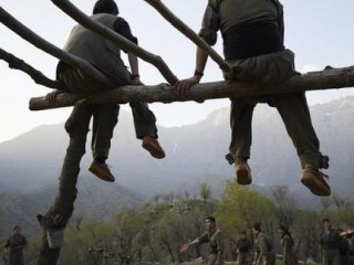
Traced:
<path fill-rule="evenodd" d="M 180 252 L 186 252 L 190 246 L 197 244 L 210 244 L 210 254 L 208 256 L 208 265 L 222 265 L 223 264 L 223 236 L 221 230 L 217 229 L 216 220 L 214 216 L 208 216 L 205 220 L 206 232 L 190 243 L 184 244 Z"/>

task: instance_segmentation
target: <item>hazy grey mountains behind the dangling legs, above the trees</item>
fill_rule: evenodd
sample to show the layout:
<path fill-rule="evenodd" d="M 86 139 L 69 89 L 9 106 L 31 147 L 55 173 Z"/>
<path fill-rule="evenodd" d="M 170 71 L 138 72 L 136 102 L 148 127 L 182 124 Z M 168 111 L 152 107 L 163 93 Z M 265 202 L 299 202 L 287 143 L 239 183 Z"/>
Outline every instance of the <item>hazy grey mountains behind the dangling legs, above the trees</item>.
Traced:
<path fill-rule="evenodd" d="M 354 184 L 354 97 L 315 105 L 311 114 L 321 150 L 331 159 L 325 173 L 331 176 L 333 192 L 350 198 Z M 167 153 L 163 160 L 152 158 L 140 147 L 140 140 L 135 139 L 132 115 L 121 113 L 108 159 L 115 183 L 104 183 L 87 171 L 92 159 L 88 136 L 77 187 L 80 214 L 94 218 L 94 208 L 105 205 L 107 214 L 103 215 L 108 219 L 117 209 L 137 205 L 156 193 L 188 191 L 194 194 L 204 182 L 210 184 L 216 197 L 221 194 L 226 180 L 233 178 L 233 167 L 225 160 L 230 140 L 229 108 L 218 109 L 194 125 L 159 127 L 158 134 Z M 8 211 L 19 205 L 15 200 L 22 200 L 22 204 L 27 201 L 27 210 L 34 212 L 33 215 L 35 211 L 48 210 L 54 198 L 67 139 L 64 125 L 60 124 L 40 126 L 0 144 L 0 199 L 13 201 L 12 206 L 3 204 L 8 205 Z M 295 149 L 280 116 L 267 105 L 256 108 L 250 166 L 253 188 L 269 191 L 274 186 L 288 186 L 290 193 L 299 199 L 298 203 L 319 201 L 300 183 L 301 168 Z M 84 199 L 86 197 L 91 200 Z M 35 203 L 40 205 L 32 209 L 30 204 Z M 88 205 L 91 211 L 87 211 Z"/>

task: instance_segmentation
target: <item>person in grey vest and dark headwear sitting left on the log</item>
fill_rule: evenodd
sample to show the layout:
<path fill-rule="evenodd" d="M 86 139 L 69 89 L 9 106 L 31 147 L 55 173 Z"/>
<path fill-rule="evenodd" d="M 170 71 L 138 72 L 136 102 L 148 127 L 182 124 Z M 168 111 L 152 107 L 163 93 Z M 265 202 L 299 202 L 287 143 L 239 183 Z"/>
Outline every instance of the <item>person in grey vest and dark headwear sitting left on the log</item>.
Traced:
<path fill-rule="evenodd" d="M 137 44 L 137 38 L 132 34 L 129 24 L 117 15 L 118 7 L 114 0 L 98 0 L 93 8 L 91 19 Z M 111 41 L 81 24 L 72 29 L 63 50 L 87 61 L 101 71 L 106 78 L 106 83 L 103 84 L 81 70 L 60 61 L 56 67 L 56 78 L 65 84 L 70 93 L 95 95 L 124 85 L 143 85 L 139 80 L 136 55 L 127 53 L 132 71 L 129 73 L 121 59 L 121 50 Z M 46 95 L 46 99 L 53 102 L 62 92 L 54 91 Z M 157 140 L 154 113 L 149 110 L 146 103 L 133 102 L 129 105 L 133 112 L 136 137 L 143 140 L 143 148 L 149 151 L 154 158 L 164 158 L 165 151 Z M 84 152 L 82 145 L 86 141 L 90 120 L 93 117 L 91 142 L 93 162 L 88 170 L 100 179 L 110 182 L 113 182 L 115 178 L 106 163 L 106 159 L 108 158 L 111 139 L 117 124 L 118 113 L 119 105 L 113 102 L 100 104 L 80 102 L 74 106 L 65 123 L 65 129 L 70 137 L 76 139 L 77 146 L 81 146 L 72 149 L 72 152 Z"/>

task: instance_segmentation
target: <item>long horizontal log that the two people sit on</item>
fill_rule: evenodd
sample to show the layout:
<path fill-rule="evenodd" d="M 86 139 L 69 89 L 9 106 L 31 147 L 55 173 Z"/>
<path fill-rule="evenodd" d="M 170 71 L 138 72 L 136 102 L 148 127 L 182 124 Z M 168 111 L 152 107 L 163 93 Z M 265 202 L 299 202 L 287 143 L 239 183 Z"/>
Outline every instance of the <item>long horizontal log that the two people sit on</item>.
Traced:
<path fill-rule="evenodd" d="M 211 98 L 225 98 L 235 96 L 256 96 L 277 93 L 304 92 L 316 89 L 333 89 L 354 86 L 354 66 L 343 68 L 330 68 L 317 72 L 309 72 L 303 75 L 293 76 L 279 84 L 260 85 L 258 83 L 239 82 L 210 82 L 201 83 L 191 87 L 189 94 L 181 98 L 173 86 L 167 84 L 150 86 L 122 86 L 110 92 L 86 97 L 91 103 L 116 102 L 125 104 L 128 102 L 201 102 Z M 31 110 L 73 106 L 83 96 L 61 94 L 55 104 L 50 104 L 45 97 L 30 99 Z"/>

